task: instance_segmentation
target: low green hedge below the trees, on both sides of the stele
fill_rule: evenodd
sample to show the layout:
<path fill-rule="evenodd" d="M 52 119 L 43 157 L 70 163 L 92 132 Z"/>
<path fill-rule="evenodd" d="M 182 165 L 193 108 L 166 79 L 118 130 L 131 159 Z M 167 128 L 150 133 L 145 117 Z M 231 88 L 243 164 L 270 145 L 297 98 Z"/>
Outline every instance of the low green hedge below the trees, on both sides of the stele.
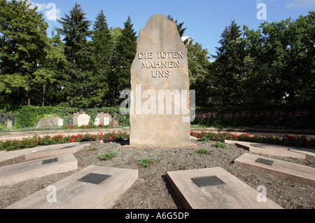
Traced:
<path fill-rule="evenodd" d="M 294 122 L 290 116 L 290 111 L 302 110 L 305 107 L 309 109 L 309 116 L 300 117 L 300 121 Z M 283 115 L 275 115 L 276 110 L 284 112 Z M 200 112 L 213 112 L 216 116 L 212 115 L 207 119 L 200 117 Z M 241 111 L 246 111 L 243 115 Z M 47 116 L 60 116 L 64 119 L 64 127 L 68 123 L 69 117 L 75 112 L 85 112 L 90 116 L 90 125 L 94 125 L 94 120 L 99 112 L 109 113 L 111 116 L 118 118 L 120 126 L 130 126 L 129 115 L 120 113 L 119 107 L 102 107 L 94 109 L 78 109 L 70 107 L 35 107 L 35 106 L 22 106 L 15 107 L 6 111 L 0 109 L 0 114 L 5 112 L 15 113 L 15 126 L 14 128 L 34 128 L 39 120 Z M 232 118 L 226 119 L 224 114 L 226 112 L 232 113 Z M 271 116 L 267 116 L 267 112 Z M 237 115 L 238 114 L 238 115 Z M 255 117 L 255 114 L 258 114 Z M 273 115 L 274 114 L 274 115 Z M 255 107 L 197 107 L 196 118 L 192 124 L 203 126 L 242 126 L 242 127 L 261 127 L 261 128 L 299 128 L 309 129 L 315 128 L 315 104 L 304 105 L 282 105 L 282 106 L 255 106 Z"/>

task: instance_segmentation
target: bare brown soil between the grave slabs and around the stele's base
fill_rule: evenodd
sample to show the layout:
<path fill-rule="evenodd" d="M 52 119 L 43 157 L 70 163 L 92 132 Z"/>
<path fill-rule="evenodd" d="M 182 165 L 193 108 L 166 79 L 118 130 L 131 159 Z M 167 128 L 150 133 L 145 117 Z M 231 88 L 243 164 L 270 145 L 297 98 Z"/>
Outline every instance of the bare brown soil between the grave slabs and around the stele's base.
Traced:
<path fill-rule="evenodd" d="M 108 142 L 94 144 L 81 149 L 73 155 L 78 159 L 78 170 L 88 165 L 139 170 L 139 180 L 118 198 L 111 207 L 112 209 L 183 209 L 181 201 L 179 201 L 169 182 L 167 182 L 166 173 L 168 171 L 217 166 L 221 166 L 221 168 L 235 175 L 241 181 L 253 187 L 253 189 L 257 189 L 260 185 L 265 186 L 267 188 L 267 197 L 283 208 L 314 209 L 314 187 L 281 180 L 267 173 L 260 173 L 250 168 L 235 165 L 234 160 L 248 152 L 235 145 L 227 144 L 227 148 L 216 148 L 213 146 L 214 142 L 196 142 L 196 144 L 197 147 L 194 149 L 124 149 L 124 143 Z M 87 150 L 91 147 L 95 149 Z M 198 149 L 207 149 L 211 154 L 199 154 L 197 153 Z M 118 152 L 118 156 L 109 161 L 99 160 L 99 155 L 111 151 Z M 260 154 L 260 156 L 264 155 Z M 267 157 L 315 168 L 315 158 L 312 156 L 307 156 L 307 159 L 282 158 L 279 156 Z M 139 158 L 153 158 L 155 162 L 147 168 L 142 168 L 138 163 Z M 21 162 L 25 162 L 23 158 L 16 158 L 2 162 L 0 166 Z M 0 208 L 6 208 L 8 205 L 52 185 L 78 170 L 0 187 Z"/>

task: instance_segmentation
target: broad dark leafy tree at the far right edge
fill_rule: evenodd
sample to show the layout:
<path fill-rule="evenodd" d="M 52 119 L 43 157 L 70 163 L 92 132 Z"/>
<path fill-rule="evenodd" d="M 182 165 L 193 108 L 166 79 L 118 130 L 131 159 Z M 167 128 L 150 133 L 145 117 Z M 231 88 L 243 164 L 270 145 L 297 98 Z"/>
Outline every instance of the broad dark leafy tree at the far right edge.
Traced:
<path fill-rule="evenodd" d="M 251 98 L 266 104 L 314 102 L 314 15 L 264 22 L 257 31 L 244 27 Z"/>

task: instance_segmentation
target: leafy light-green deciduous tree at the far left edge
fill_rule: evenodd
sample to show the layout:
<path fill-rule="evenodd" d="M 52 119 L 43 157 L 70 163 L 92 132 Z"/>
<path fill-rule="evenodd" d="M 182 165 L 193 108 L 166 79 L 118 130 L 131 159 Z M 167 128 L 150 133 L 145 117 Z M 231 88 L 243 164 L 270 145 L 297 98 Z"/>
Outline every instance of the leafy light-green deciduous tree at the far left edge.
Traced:
<path fill-rule="evenodd" d="M 41 104 L 36 71 L 45 64 L 50 46 L 48 24 L 36 9 L 27 1 L 0 0 L 1 104 Z"/>

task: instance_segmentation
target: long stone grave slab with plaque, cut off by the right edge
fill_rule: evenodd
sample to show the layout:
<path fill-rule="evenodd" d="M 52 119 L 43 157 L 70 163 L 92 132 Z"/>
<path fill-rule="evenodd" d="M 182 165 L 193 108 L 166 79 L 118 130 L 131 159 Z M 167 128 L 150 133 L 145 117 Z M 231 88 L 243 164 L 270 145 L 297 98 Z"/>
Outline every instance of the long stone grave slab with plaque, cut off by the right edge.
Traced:
<path fill-rule="evenodd" d="M 273 163 L 272 165 L 266 164 L 267 162 L 260 163 L 258 161 L 259 158 L 265 159 L 267 162 L 272 161 Z M 235 159 L 234 163 L 236 165 L 242 165 L 263 173 L 275 175 L 283 180 L 290 180 L 301 184 L 315 186 L 315 168 L 311 168 L 306 165 L 288 163 L 248 153 Z"/>

